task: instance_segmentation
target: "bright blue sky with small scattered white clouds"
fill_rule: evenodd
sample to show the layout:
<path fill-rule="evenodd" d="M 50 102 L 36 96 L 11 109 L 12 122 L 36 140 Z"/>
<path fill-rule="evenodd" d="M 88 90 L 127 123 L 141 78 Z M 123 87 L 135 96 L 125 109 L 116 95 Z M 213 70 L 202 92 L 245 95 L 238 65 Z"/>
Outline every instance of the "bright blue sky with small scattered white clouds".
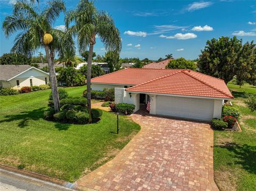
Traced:
<path fill-rule="evenodd" d="M 13 3 L 1 0 L 1 26 Z M 65 3 L 69 10 L 78 1 Z M 121 57 L 157 60 L 172 53 L 174 58 L 196 59 L 208 39 L 234 35 L 243 42 L 256 39 L 256 1 L 95 1 L 95 5 L 113 16 L 122 37 Z M 53 27 L 62 27 L 63 16 Z M 1 30 L 0 38 L 0 55 L 10 52 L 15 35 L 6 39 Z M 99 38 L 94 52 L 105 54 Z"/>

